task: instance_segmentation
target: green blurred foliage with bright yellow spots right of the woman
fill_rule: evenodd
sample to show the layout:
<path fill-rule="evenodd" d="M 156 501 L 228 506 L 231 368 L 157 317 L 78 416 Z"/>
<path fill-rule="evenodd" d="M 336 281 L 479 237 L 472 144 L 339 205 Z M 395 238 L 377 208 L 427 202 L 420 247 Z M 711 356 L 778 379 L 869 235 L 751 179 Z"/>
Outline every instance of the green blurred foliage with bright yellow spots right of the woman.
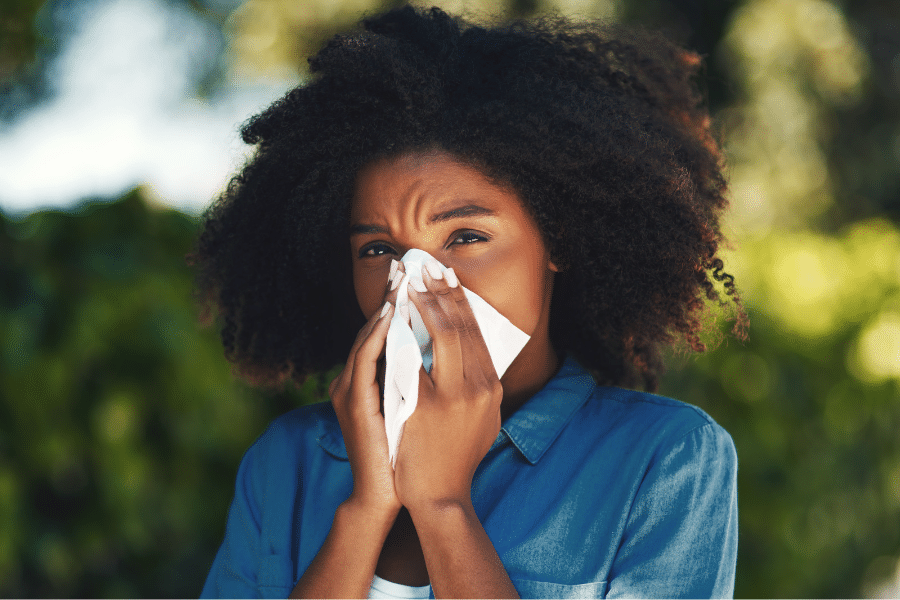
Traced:
<path fill-rule="evenodd" d="M 673 357 L 661 390 L 734 438 L 735 596 L 872 593 L 900 554 L 900 233 L 773 232 L 738 257 L 749 340 Z"/>

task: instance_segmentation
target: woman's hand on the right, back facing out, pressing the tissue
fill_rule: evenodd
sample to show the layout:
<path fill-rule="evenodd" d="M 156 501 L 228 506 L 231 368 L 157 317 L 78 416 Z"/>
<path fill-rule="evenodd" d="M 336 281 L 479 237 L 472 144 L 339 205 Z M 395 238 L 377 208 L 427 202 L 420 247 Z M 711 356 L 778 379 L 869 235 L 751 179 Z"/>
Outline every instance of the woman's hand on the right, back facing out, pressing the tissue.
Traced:
<path fill-rule="evenodd" d="M 409 286 L 432 339 L 431 373 L 419 370 L 419 400 L 406 421 L 394 488 L 410 512 L 471 502 L 475 469 L 500 432 L 503 387 L 462 286 L 432 279 Z"/>

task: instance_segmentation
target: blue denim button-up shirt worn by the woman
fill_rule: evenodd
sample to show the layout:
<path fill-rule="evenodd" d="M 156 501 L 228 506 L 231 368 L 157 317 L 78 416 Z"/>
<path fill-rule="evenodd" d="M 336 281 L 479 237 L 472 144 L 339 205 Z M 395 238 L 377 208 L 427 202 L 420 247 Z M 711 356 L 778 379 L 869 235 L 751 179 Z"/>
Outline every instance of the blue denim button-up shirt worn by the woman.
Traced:
<path fill-rule="evenodd" d="M 736 475 L 705 412 L 566 357 L 503 423 L 472 502 L 523 598 L 731 597 Z M 276 419 L 241 461 L 202 597 L 287 597 L 352 485 L 330 402 Z"/>

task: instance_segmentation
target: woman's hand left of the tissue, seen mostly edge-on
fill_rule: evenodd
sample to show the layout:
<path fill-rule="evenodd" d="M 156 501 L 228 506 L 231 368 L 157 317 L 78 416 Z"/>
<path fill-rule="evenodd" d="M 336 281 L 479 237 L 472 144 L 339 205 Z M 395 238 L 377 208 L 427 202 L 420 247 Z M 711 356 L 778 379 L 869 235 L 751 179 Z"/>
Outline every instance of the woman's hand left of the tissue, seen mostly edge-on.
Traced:
<path fill-rule="evenodd" d="M 394 279 L 403 277 L 403 263 L 398 262 Z M 384 299 L 390 303 L 381 316 L 379 308 L 359 330 L 350 348 L 347 364 L 328 388 L 334 405 L 344 445 L 353 472 L 353 492 L 348 501 L 378 512 L 400 511 L 400 500 L 394 491 L 394 469 L 388 458 L 387 433 L 381 414 L 381 384 L 378 363 L 385 350 L 388 327 L 394 314 L 397 289 L 385 286 Z M 384 305 L 382 305 L 384 306 Z"/>

